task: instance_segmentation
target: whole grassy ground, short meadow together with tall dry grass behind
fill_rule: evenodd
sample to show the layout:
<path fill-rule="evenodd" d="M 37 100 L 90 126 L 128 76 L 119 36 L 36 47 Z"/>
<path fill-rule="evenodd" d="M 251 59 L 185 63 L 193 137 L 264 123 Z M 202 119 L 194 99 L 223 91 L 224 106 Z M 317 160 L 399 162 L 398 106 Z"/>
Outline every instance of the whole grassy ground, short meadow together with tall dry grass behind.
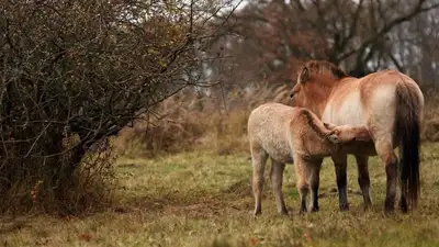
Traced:
<path fill-rule="evenodd" d="M 169 99 L 157 110 L 165 119 L 153 119 L 148 127 L 140 123 L 126 128 L 115 139 L 120 149 L 128 151 L 115 166 L 119 184 L 111 209 L 88 217 L 1 218 L 0 246 L 439 245 L 439 144 L 428 142 L 421 149 L 421 202 L 409 215 L 383 215 L 385 172 L 375 157 L 370 161 L 374 206 L 363 212 L 350 157 L 349 212 L 338 211 L 334 167 L 326 159 L 320 212 L 297 214 L 294 167 L 288 166 L 284 193 L 292 214 L 278 215 L 268 182 L 263 214 L 254 218 L 247 117 L 262 102 L 284 102 L 288 89 L 256 92 L 230 98 L 227 111 L 213 110 L 215 101 L 209 98 Z M 425 141 L 434 141 L 439 131 L 435 128 L 439 98 L 429 99 Z"/>

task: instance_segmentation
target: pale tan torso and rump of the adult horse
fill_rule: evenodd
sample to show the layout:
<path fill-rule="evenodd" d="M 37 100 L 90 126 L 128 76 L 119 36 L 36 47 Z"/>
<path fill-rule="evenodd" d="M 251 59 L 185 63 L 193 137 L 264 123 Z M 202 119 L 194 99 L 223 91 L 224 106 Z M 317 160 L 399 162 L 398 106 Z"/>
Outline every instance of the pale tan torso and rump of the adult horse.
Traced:
<path fill-rule="evenodd" d="M 362 78 L 344 79 L 333 90 L 322 120 L 337 125 L 363 125 L 374 138 L 392 138 L 392 143 L 396 147 L 396 136 L 392 135 L 397 117 L 396 93 L 398 87 L 405 87 L 413 92 L 412 96 L 419 101 L 420 109 L 418 111 L 421 111 L 424 97 L 417 83 L 399 71 L 387 69 Z M 359 149 L 374 155 L 373 143 L 371 142 L 367 146 L 368 148 Z M 356 149 L 352 148 L 352 150 Z"/>

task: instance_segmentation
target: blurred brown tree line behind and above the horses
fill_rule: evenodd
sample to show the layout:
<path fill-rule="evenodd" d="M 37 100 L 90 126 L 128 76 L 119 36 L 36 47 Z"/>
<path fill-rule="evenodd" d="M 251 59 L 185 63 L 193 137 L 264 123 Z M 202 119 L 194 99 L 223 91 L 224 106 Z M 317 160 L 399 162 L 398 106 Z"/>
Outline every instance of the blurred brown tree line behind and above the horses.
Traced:
<path fill-rule="evenodd" d="M 291 85 L 297 66 L 312 58 L 357 77 L 396 68 L 432 87 L 438 14 L 437 0 L 255 0 L 233 13 L 228 35 L 215 44 L 235 56 L 237 81 Z"/>

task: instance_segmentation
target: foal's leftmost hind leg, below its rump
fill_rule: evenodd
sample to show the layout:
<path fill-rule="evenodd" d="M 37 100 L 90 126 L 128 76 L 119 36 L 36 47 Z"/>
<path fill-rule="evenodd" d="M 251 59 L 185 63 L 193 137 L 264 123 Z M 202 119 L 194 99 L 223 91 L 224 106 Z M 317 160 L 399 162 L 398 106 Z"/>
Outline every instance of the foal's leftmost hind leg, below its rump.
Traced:
<path fill-rule="evenodd" d="M 262 213 L 263 171 L 268 155 L 259 145 L 251 145 L 251 161 L 254 166 L 252 191 L 255 197 L 255 215 Z"/>

